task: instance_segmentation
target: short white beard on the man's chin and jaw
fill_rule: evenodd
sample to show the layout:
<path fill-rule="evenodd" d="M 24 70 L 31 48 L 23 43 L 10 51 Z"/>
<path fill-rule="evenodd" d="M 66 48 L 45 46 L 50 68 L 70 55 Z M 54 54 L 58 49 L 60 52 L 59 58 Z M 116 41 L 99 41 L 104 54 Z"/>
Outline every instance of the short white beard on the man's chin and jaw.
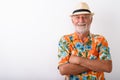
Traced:
<path fill-rule="evenodd" d="M 84 34 L 85 32 L 89 31 L 89 29 L 90 29 L 90 26 L 86 24 L 78 24 L 77 26 L 75 26 L 75 31 L 80 34 Z"/>

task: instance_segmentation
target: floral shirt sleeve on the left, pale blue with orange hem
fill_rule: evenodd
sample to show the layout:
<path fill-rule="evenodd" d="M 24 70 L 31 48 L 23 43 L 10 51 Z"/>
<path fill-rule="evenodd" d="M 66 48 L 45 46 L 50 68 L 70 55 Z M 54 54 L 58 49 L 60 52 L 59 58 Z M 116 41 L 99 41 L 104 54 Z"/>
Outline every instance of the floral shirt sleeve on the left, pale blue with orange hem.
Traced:
<path fill-rule="evenodd" d="M 70 58 L 70 51 L 69 51 L 69 46 L 68 46 L 68 41 L 65 40 L 64 37 L 62 37 L 59 41 L 58 44 L 58 67 L 62 64 L 69 63 L 69 58 Z"/>

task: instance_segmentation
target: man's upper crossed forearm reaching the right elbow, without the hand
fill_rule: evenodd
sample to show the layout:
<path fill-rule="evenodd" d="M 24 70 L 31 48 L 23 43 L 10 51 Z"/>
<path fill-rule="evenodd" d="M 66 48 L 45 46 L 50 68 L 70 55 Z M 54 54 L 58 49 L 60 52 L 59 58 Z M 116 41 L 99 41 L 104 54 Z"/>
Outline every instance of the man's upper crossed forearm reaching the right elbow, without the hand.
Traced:
<path fill-rule="evenodd" d="M 110 60 L 90 60 L 80 57 L 79 64 L 98 72 L 111 72 L 112 62 Z"/>

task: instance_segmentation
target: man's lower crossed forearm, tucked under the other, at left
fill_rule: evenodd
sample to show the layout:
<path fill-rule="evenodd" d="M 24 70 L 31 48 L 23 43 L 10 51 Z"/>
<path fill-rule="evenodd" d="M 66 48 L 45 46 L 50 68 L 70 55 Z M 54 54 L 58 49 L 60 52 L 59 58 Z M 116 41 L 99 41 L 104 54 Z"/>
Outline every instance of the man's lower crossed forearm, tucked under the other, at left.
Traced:
<path fill-rule="evenodd" d="M 88 68 L 85 68 L 77 64 L 71 64 L 71 63 L 59 66 L 59 70 L 62 75 L 71 75 L 71 74 L 77 75 L 82 72 L 89 71 Z"/>

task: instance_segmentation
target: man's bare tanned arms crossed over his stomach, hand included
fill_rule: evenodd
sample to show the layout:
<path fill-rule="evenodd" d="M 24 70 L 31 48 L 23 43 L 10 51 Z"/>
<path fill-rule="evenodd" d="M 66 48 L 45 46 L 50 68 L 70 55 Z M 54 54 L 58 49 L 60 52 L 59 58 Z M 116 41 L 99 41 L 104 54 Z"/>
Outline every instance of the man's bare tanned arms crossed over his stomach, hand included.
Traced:
<path fill-rule="evenodd" d="M 87 71 L 108 72 L 112 71 L 111 60 L 90 60 L 83 57 L 71 55 L 69 63 L 59 66 L 62 75 L 77 75 Z"/>

